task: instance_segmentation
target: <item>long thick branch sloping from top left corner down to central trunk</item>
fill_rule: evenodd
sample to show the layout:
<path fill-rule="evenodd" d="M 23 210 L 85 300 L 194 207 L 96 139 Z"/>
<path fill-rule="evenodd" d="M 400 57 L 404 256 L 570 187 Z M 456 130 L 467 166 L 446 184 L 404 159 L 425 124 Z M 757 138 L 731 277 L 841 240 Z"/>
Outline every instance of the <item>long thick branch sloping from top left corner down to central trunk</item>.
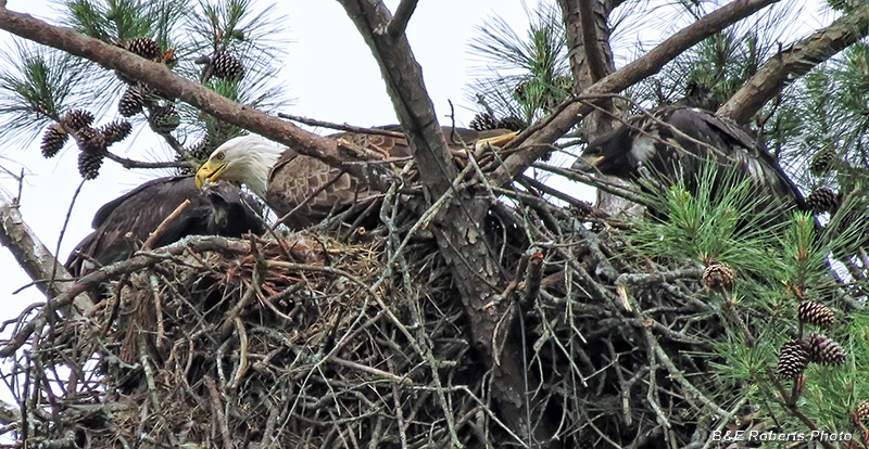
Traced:
<path fill-rule="evenodd" d="M 118 47 L 72 29 L 52 26 L 30 15 L 5 9 L 0 9 L 0 29 L 97 62 L 106 68 L 119 70 L 135 80 L 159 86 L 163 94 L 178 98 L 222 120 L 291 146 L 299 153 L 340 168 L 376 189 L 389 188 L 386 168 L 377 164 L 347 163 L 348 157 L 344 153 L 348 152 L 341 152 L 337 141 L 307 132 L 286 120 L 236 103 L 202 85 L 172 73 L 163 64 L 138 57 Z"/>

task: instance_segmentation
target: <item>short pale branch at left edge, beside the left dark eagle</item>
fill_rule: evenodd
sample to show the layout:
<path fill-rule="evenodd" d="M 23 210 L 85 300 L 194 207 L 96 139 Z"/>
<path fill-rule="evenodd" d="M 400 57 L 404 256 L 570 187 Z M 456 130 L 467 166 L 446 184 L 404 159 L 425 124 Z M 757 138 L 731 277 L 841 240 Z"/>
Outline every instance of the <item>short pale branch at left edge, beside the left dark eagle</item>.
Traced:
<path fill-rule="evenodd" d="M 42 244 L 21 216 L 12 196 L 0 189 L 0 243 L 8 247 L 18 265 L 34 280 L 48 299 L 66 292 L 73 278 Z M 75 297 L 76 312 L 93 307 L 87 295 Z"/>

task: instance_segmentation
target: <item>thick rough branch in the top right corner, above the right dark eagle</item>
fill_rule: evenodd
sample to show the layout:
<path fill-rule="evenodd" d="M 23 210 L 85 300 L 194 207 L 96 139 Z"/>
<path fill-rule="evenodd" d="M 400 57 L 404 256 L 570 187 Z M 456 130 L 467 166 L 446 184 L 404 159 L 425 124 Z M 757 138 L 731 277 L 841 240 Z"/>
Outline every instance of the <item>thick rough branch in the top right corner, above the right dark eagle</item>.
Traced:
<path fill-rule="evenodd" d="M 748 121 L 788 84 L 807 74 L 844 48 L 869 34 L 869 3 L 782 50 L 764 65 L 716 114 L 739 124 Z"/>

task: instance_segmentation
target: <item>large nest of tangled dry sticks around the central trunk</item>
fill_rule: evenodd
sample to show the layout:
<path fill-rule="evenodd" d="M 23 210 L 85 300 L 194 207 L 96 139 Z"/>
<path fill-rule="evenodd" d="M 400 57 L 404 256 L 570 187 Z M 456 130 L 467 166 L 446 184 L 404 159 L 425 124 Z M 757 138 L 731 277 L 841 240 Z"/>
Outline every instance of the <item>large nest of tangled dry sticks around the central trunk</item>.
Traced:
<path fill-rule="evenodd" d="M 705 375 L 735 324 L 702 269 L 662 271 L 553 211 L 538 243 L 501 242 L 516 281 L 494 361 L 431 239 L 192 238 L 34 335 L 15 429 L 46 447 L 522 446 L 492 398 L 507 357 L 527 367 L 527 418 L 563 447 L 681 447 L 747 413 L 716 396 L 739 385 Z"/>

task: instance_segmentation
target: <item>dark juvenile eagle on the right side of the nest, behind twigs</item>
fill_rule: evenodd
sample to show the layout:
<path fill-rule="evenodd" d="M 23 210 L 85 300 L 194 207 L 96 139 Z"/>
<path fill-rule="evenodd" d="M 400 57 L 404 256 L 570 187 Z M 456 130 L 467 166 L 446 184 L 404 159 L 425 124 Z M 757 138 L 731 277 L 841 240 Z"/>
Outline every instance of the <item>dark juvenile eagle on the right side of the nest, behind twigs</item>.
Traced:
<path fill-rule="evenodd" d="M 758 197 L 768 197 L 758 207 L 806 210 L 802 193 L 763 144 L 736 124 L 697 108 L 664 106 L 630 117 L 592 140 L 574 168 L 628 181 L 650 174 L 696 193 L 697 176 L 708 162 L 717 166 L 714 191 L 735 172 L 738 182 L 751 179 Z"/>

